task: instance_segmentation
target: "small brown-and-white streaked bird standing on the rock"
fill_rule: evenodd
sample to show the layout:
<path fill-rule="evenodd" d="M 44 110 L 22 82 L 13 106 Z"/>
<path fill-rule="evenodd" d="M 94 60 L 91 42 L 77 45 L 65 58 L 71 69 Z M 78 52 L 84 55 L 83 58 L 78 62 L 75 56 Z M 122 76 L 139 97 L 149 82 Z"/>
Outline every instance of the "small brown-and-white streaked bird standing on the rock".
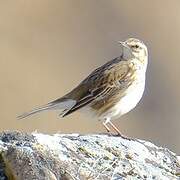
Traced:
<path fill-rule="evenodd" d="M 148 50 L 137 38 L 118 41 L 118 44 L 120 55 L 92 71 L 72 91 L 17 118 L 23 119 L 47 110 L 59 110 L 60 117 L 80 111 L 101 121 L 109 133 L 113 130 L 122 136 L 112 120 L 131 111 L 142 98 Z"/>

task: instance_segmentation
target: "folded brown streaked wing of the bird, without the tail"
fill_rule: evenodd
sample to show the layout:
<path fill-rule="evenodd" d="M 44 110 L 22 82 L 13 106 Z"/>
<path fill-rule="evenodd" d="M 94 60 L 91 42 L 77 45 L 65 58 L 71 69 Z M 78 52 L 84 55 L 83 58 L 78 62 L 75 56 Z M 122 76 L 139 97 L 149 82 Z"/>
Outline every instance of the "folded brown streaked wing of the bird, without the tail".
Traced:
<path fill-rule="evenodd" d="M 65 97 L 76 100 L 76 104 L 68 109 L 62 117 L 91 103 L 103 99 L 121 89 L 126 81 L 130 68 L 126 61 L 114 59 L 93 71 L 84 81 Z"/>

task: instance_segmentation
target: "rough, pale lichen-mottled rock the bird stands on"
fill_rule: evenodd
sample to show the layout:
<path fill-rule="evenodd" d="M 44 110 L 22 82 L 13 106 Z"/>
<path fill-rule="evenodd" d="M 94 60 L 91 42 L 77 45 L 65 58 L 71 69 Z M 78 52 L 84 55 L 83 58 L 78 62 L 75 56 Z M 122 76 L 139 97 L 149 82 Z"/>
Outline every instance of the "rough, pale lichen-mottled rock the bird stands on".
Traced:
<path fill-rule="evenodd" d="M 0 180 L 180 179 L 180 158 L 109 135 L 0 133 Z"/>

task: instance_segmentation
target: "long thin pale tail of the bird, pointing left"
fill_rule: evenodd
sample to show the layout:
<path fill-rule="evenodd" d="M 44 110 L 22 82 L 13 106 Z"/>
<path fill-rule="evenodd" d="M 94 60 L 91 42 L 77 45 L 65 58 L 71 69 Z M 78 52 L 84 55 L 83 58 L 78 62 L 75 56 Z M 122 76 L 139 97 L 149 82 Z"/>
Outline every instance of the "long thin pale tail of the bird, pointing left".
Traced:
<path fill-rule="evenodd" d="M 36 114 L 36 113 L 39 113 L 42 111 L 46 111 L 46 110 L 60 110 L 61 111 L 60 116 L 63 116 L 63 114 L 66 111 L 70 110 L 75 104 L 76 104 L 76 101 L 72 100 L 72 99 L 62 99 L 62 100 L 58 99 L 58 100 L 50 102 L 44 106 L 35 108 L 29 112 L 25 112 L 25 113 L 17 116 L 17 119 L 24 119 L 28 116 L 31 116 L 33 114 Z"/>

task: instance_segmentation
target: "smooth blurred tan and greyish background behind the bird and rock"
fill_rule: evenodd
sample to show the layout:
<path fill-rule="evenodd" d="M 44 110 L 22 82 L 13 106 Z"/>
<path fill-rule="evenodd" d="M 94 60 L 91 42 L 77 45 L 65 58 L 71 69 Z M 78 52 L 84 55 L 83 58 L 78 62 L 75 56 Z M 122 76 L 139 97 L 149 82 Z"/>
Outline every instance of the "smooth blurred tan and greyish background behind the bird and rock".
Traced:
<path fill-rule="evenodd" d="M 16 116 L 52 101 L 120 54 L 136 37 L 149 50 L 144 96 L 114 123 L 130 137 L 180 154 L 180 1 L 17 0 L 0 2 L 0 130 L 105 132 L 78 112 Z"/>

